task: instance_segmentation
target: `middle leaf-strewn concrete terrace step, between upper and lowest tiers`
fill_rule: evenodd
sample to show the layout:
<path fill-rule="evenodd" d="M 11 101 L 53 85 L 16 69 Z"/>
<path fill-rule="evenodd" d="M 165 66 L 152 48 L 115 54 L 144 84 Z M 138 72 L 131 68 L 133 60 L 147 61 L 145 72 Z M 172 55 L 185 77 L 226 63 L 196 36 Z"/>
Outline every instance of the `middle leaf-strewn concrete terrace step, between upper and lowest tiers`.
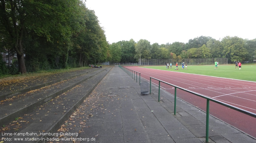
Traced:
<path fill-rule="evenodd" d="M 24 114 L 28 114 L 32 110 L 36 109 L 38 106 L 41 106 L 48 101 L 53 100 L 59 95 L 62 95 L 63 93 L 85 81 L 92 81 L 92 77 L 94 76 L 106 74 L 106 72 L 108 72 L 109 70 L 110 68 L 102 68 L 97 70 L 91 70 L 91 72 L 86 72 L 86 74 L 76 74 L 76 76 L 72 77 L 68 75 L 64 77 L 67 80 L 64 80 L 64 78 L 62 78 L 61 82 L 55 81 L 55 84 L 52 84 L 50 86 L 40 89 L 36 88 L 27 93 L 19 94 L 13 98 L 2 101 L 0 106 L 1 126 L 5 126 L 11 123 L 14 119 L 17 119 Z"/>

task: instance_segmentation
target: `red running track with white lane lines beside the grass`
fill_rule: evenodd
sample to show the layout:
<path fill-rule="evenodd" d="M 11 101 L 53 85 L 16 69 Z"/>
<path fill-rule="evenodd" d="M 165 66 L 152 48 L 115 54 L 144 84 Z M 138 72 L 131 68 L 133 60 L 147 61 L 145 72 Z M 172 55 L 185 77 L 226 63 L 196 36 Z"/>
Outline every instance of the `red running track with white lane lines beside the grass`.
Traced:
<path fill-rule="evenodd" d="M 141 77 L 146 80 L 154 77 L 256 114 L 256 82 L 143 67 L 127 68 L 140 72 Z M 152 79 L 151 82 L 158 86 L 158 81 Z M 172 88 L 163 83 L 160 86 L 169 93 L 174 93 L 174 87 Z M 206 111 L 206 99 L 179 89 L 177 89 L 177 97 Z M 256 137 L 256 118 L 214 102 L 210 102 L 210 114 Z"/>

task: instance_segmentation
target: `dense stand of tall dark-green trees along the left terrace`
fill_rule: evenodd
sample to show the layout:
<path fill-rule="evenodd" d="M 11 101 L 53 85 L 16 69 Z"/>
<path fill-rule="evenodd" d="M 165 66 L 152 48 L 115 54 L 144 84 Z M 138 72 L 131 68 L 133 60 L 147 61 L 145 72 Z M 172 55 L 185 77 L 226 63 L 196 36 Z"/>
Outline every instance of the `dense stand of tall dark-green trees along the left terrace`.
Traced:
<path fill-rule="evenodd" d="M 110 57 L 103 27 L 80 0 L 1 0 L 0 32 L 1 51 L 17 54 L 20 73 L 84 66 Z"/>

